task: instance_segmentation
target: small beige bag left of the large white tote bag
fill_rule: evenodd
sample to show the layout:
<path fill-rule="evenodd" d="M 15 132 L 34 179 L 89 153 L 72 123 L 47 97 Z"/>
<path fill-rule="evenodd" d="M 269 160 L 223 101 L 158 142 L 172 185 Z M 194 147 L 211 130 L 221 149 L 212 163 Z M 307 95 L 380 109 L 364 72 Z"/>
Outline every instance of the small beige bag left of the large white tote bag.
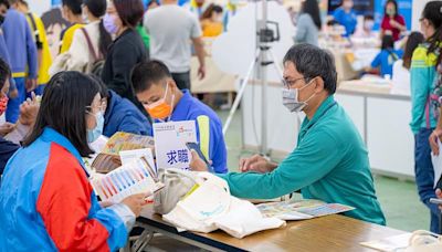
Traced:
<path fill-rule="evenodd" d="M 165 188 L 154 196 L 154 212 L 169 213 L 197 183 L 196 176 L 181 169 L 159 169 L 158 180 Z"/>

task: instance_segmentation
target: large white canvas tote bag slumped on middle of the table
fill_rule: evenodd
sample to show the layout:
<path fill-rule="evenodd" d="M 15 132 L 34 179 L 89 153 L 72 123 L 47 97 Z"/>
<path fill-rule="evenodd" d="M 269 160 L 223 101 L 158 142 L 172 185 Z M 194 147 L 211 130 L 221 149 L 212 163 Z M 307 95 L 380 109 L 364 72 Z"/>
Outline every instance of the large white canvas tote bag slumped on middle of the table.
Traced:
<path fill-rule="evenodd" d="M 221 229 L 235 238 L 285 225 L 276 218 L 263 218 L 255 206 L 230 195 L 225 180 L 198 172 L 198 188 L 162 218 L 176 227 L 209 233 Z"/>

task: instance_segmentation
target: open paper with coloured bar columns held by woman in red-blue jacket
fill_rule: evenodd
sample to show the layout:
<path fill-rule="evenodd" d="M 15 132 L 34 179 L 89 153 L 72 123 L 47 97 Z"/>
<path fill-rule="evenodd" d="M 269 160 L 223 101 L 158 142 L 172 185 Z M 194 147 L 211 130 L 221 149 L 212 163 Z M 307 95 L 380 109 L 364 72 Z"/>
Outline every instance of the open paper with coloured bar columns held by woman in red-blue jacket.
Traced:
<path fill-rule="evenodd" d="M 95 176 L 92 186 L 103 201 L 118 203 L 131 195 L 156 191 L 162 185 L 156 183 L 154 176 L 147 160 L 138 158 L 107 175 Z"/>

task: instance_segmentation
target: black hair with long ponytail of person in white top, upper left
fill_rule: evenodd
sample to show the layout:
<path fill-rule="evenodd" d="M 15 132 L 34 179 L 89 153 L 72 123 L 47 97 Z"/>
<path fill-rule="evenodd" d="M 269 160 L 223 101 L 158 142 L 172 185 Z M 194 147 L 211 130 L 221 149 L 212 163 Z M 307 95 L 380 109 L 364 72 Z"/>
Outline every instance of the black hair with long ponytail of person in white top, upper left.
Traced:
<path fill-rule="evenodd" d="M 95 18 L 101 18 L 106 13 L 107 1 L 106 0 L 83 0 L 83 4 L 87 7 L 90 12 Z M 110 34 L 104 29 L 103 19 L 99 21 L 99 40 L 98 49 L 103 59 L 106 59 L 108 48 L 112 43 Z"/>

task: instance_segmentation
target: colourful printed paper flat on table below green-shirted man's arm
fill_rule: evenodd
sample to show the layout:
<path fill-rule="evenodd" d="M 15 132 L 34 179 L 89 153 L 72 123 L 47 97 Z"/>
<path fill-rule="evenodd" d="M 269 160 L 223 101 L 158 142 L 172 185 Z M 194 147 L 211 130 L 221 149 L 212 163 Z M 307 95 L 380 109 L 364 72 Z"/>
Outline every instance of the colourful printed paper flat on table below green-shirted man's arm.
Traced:
<path fill-rule="evenodd" d="M 256 207 L 264 217 L 276 217 L 281 220 L 306 220 L 355 209 L 339 203 L 325 203 L 319 200 L 282 201 L 262 203 Z"/>

